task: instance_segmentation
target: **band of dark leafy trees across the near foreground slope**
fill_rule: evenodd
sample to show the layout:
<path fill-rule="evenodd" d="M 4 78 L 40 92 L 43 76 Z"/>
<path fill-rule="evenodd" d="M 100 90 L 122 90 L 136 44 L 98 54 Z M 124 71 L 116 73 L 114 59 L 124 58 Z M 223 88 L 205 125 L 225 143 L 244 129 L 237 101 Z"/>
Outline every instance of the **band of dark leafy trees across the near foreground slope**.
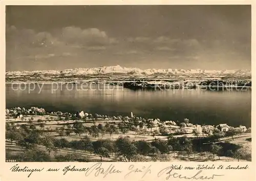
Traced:
<path fill-rule="evenodd" d="M 78 123 L 74 125 L 77 130 Z M 78 126 L 79 127 L 79 126 Z M 93 125 L 95 129 L 100 129 Z M 97 141 L 91 141 L 88 135 L 84 136 L 80 140 L 67 141 L 64 138 L 56 139 L 52 137 L 48 132 L 44 132 L 42 129 L 33 129 L 31 127 L 22 126 L 20 129 L 11 127 L 6 131 L 6 139 L 11 143 L 15 142 L 21 146 L 24 150 L 40 150 L 38 145 L 41 145 L 48 151 L 48 155 L 53 150 L 60 150 L 63 148 L 70 148 L 74 152 L 76 150 L 83 150 L 86 152 L 94 153 L 102 159 L 102 157 L 114 156 L 116 161 L 130 162 L 138 155 L 150 156 L 155 159 L 158 155 L 177 153 L 177 156 L 185 155 L 187 159 L 191 154 L 195 153 L 193 147 L 193 140 L 187 137 L 176 138 L 170 135 L 167 140 L 155 139 L 152 142 L 146 141 L 131 141 L 128 137 L 119 137 L 116 141 L 99 139 Z M 217 144 L 213 144 L 211 148 L 213 156 L 222 154 L 222 147 Z M 40 155 L 40 154 L 39 154 Z M 241 153 L 235 153 L 233 155 L 242 157 Z"/>

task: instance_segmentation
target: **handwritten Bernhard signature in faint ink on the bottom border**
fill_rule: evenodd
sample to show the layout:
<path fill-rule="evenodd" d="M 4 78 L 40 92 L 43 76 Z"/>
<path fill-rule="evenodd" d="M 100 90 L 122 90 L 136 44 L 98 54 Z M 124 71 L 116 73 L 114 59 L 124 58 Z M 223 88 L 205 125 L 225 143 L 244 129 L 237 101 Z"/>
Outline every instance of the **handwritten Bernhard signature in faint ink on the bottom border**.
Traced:
<path fill-rule="evenodd" d="M 172 167 L 166 167 L 164 169 L 162 169 L 161 171 L 158 172 L 157 176 L 160 177 L 162 176 L 164 173 L 166 173 L 166 177 L 165 179 L 169 179 L 170 177 L 173 178 L 184 178 L 184 179 L 214 179 L 215 176 L 224 176 L 224 175 L 216 175 L 216 174 L 212 174 L 211 176 L 204 176 L 204 175 L 200 175 L 200 173 L 203 172 L 203 170 L 198 171 L 194 176 L 183 176 L 182 174 L 179 174 L 177 172 L 172 172 L 173 168 Z"/>

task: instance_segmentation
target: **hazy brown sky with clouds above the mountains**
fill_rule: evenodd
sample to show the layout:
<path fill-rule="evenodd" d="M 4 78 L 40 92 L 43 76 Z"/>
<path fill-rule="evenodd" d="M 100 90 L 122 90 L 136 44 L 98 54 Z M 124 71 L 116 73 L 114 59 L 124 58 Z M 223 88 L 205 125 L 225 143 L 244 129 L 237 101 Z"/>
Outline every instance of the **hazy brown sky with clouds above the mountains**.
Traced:
<path fill-rule="evenodd" d="M 251 6 L 7 6 L 6 71 L 251 69 Z"/>

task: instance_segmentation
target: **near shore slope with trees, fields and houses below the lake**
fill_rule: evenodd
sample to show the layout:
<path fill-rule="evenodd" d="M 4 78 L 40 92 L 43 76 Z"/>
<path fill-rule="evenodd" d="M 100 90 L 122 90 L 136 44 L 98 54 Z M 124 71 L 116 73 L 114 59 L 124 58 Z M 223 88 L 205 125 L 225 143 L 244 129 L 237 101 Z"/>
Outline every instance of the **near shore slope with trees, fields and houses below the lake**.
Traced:
<path fill-rule="evenodd" d="M 131 115 L 6 109 L 6 159 L 18 162 L 251 161 L 251 128 Z"/>

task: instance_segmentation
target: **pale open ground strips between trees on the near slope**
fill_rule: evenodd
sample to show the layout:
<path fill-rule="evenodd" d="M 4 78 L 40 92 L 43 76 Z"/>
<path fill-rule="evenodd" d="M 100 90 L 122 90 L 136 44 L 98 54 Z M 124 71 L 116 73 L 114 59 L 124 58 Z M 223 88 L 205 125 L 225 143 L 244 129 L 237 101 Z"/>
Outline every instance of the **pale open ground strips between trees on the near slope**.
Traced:
<path fill-rule="evenodd" d="M 60 129 L 62 126 L 67 127 L 67 125 L 73 125 L 75 121 L 73 120 L 66 120 L 66 121 L 60 121 L 57 120 L 59 119 L 59 117 L 54 117 L 51 116 L 52 120 L 47 118 L 49 116 L 33 116 L 33 121 L 30 122 L 30 124 L 28 123 L 28 120 L 31 118 L 30 116 L 28 117 L 24 117 L 24 119 L 26 118 L 26 121 L 20 118 L 17 119 L 8 119 L 6 120 L 6 123 L 9 123 L 11 126 L 15 126 L 15 127 L 19 127 L 22 124 L 25 125 L 34 125 L 37 129 L 41 129 L 44 131 L 49 131 L 50 135 L 52 135 L 55 138 L 65 138 L 68 141 L 72 141 L 72 140 L 77 140 L 79 141 L 81 138 L 84 137 L 84 135 L 88 135 L 88 133 L 83 133 L 80 136 L 78 134 L 75 133 L 71 133 L 70 135 L 59 135 L 58 134 L 58 130 Z M 38 122 L 38 119 L 41 120 L 41 123 L 44 124 L 44 128 L 40 127 L 40 124 Z M 87 127 L 91 127 L 92 125 L 98 125 L 98 124 L 102 124 L 103 126 L 106 124 L 106 122 L 111 122 L 111 120 L 97 120 L 95 122 L 93 122 L 92 120 L 88 119 L 86 121 L 82 121 L 79 120 L 79 122 L 81 122 L 83 124 L 83 126 L 87 126 Z M 151 142 L 154 141 L 155 138 L 156 139 L 167 139 L 167 136 L 164 135 L 155 135 L 154 137 L 152 135 L 148 135 L 148 134 L 138 134 L 134 131 L 127 131 L 126 133 L 113 133 L 112 135 L 110 135 L 108 132 L 104 132 L 104 133 L 99 133 L 98 137 L 94 138 L 92 135 L 90 136 L 91 141 L 97 141 L 98 139 L 110 139 L 110 140 L 117 140 L 119 138 L 120 135 L 123 136 L 129 136 L 131 141 L 139 141 L 139 140 L 144 140 L 147 142 Z M 183 135 L 175 135 L 174 137 L 182 137 Z M 194 134 L 186 134 L 187 137 L 195 137 Z M 201 135 L 201 137 L 204 137 L 205 135 Z M 251 150 L 251 142 L 247 141 L 246 139 L 251 138 L 251 134 L 250 133 L 244 133 L 244 134 L 240 134 L 240 135 L 235 135 L 233 137 L 233 139 L 231 137 L 225 137 L 219 140 L 219 142 L 229 142 L 232 144 L 236 144 L 236 145 L 241 145 L 242 147 L 244 147 L 246 150 Z M 44 146 L 38 145 L 37 147 L 38 149 L 41 150 L 46 150 L 46 148 Z M 15 143 L 11 143 L 10 141 L 6 140 L 6 152 L 7 153 L 20 153 L 23 152 L 24 150 L 16 145 Z M 95 155 L 92 152 L 89 151 L 84 151 L 84 150 L 76 150 L 74 152 L 74 150 L 72 150 L 71 148 L 63 148 L 63 149 L 55 149 L 52 150 L 50 152 L 50 157 L 51 159 L 54 159 L 54 157 L 56 155 L 68 155 L 68 154 L 75 154 L 77 157 L 83 157 L 84 159 L 90 161 L 90 162 L 98 162 L 100 161 L 100 157 Z M 204 155 L 203 155 L 204 154 Z M 178 152 L 170 152 L 169 154 L 163 155 L 162 157 L 159 156 L 157 157 L 154 161 L 195 161 L 195 162 L 204 162 L 204 161 L 219 161 L 219 157 L 215 156 L 215 158 L 212 157 L 212 154 L 210 153 L 199 153 L 199 152 L 194 152 L 192 153 L 189 158 L 187 158 L 184 155 L 179 155 Z M 138 160 L 141 161 L 152 161 L 152 158 L 150 156 L 143 156 L 142 158 L 139 158 Z M 234 159 L 232 157 L 227 157 L 227 156 L 220 156 L 220 160 L 221 161 L 227 161 L 227 162 L 232 162 L 232 161 L 237 161 L 237 159 Z M 117 158 L 115 157 L 115 155 L 110 155 L 109 158 L 102 158 L 102 161 L 106 161 L 106 162 L 114 162 L 114 161 L 119 161 L 117 160 Z M 240 161 L 245 161 L 245 160 L 240 160 Z"/>

